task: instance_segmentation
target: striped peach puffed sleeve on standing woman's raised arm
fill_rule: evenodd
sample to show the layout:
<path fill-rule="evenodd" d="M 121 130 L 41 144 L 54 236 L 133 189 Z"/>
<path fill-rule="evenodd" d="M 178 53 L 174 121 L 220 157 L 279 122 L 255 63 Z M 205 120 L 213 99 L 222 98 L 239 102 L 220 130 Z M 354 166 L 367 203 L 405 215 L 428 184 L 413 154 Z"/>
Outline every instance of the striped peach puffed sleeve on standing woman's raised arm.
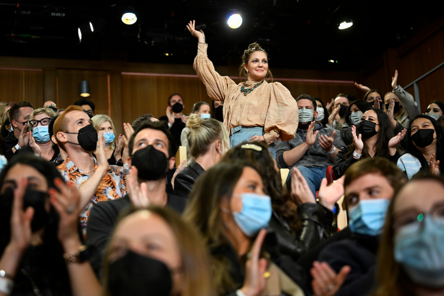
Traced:
<path fill-rule="evenodd" d="M 215 101 L 225 101 L 225 95 L 230 85 L 236 83 L 228 76 L 220 76 L 214 70 L 213 63 L 206 56 L 206 48 L 208 44 L 198 43 L 197 56 L 194 59 L 193 68 L 206 87 L 206 93 Z"/>

